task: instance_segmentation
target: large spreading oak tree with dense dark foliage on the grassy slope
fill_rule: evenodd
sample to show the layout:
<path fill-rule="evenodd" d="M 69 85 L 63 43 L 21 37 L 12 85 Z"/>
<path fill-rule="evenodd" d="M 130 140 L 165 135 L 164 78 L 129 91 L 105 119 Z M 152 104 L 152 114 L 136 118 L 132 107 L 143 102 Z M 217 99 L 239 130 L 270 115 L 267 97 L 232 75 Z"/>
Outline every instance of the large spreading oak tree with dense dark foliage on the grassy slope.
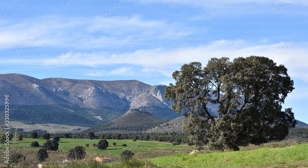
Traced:
<path fill-rule="evenodd" d="M 205 136 L 211 149 L 234 151 L 282 140 L 295 127 L 292 109 L 282 111 L 293 80 L 284 65 L 267 57 L 211 58 L 204 68 L 200 62 L 184 64 L 172 77 L 176 83 L 166 87 L 164 97 L 188 119 L 183 131 L 198 150 Z M 217 105 L 216 115 L 210 104 Z"/>

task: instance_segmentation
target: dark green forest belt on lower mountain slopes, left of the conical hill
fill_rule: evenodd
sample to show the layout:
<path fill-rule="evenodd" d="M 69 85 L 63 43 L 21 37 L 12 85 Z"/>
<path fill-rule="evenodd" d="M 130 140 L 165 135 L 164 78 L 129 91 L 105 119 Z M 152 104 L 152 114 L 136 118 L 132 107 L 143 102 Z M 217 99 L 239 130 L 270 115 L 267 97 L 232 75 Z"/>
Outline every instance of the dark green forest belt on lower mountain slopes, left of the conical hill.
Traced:
<path fill-rule="evenodd" d="M 126 112 L 120 108 L 100 107 L 92 109 L 63 104 L 57 104 L 56 106 L 12 105 L 10 107 L 12 107 L 12 110 L 10 111 L 10 113 L 12 113 L 10 120 L 12 121 L 21 121 L 33 124 L 55 123 L 82 127 L 93 127 L 95 125 L 106 123 L 114 119 L 116 116 L 123 115 Z M 74 112 L 70 110 L 73 110 Z M 99 120 L 87 115 L 89 112 L 95 116 L 105 117 L 102 118 L 103 120 Z M 0 113 L 0 122 L 4 122 L 4 114 L 5 113 Z"/>

